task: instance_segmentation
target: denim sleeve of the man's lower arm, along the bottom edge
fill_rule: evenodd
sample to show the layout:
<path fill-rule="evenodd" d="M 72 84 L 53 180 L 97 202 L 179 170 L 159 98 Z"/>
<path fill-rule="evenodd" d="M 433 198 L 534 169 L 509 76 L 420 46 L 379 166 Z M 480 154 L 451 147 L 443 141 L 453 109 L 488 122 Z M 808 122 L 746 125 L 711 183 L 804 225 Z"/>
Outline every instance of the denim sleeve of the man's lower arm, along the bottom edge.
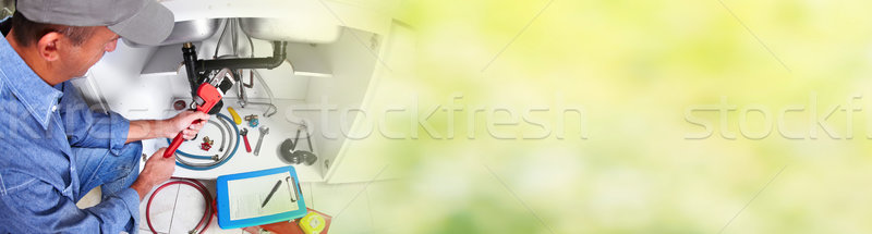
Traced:
<path fill-rule="evenodd" d="M 135 233 L 140 195 L 126 188 L 97 206 L 78 209 L 69 197 L 41 181 L 0 197 L 3 225 L 31 233 Z M 2 229 L 0 229 L 2 230 Z"/>

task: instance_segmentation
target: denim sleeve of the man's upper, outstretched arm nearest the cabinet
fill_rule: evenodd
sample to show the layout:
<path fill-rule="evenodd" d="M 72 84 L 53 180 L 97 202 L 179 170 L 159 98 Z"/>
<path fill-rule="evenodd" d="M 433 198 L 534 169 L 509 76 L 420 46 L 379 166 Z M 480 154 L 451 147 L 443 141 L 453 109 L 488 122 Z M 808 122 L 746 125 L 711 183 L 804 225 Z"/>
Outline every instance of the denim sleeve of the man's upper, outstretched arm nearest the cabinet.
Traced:
<path fill-rule="evenodd" d="M 59 110 L 70 146 L 108 148 L 114 155 L 121 153 L 128 140 L 130 121 L 116 112 L 107 114 L 90 110 L 70 82 L 62 83 L 62 89 Z"/>

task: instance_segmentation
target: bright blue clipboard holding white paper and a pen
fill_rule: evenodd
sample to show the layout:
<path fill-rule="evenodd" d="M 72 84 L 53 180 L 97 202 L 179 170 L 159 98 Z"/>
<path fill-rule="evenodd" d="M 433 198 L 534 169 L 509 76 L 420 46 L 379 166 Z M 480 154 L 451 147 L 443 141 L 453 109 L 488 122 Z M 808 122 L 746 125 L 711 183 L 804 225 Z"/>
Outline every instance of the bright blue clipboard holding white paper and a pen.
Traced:
<path fill-rule="evenodd" d="M 221 229 L 276 223 L 307 213 L 300 180 L 290 165 L 218 176 L 216 194 Z"/>

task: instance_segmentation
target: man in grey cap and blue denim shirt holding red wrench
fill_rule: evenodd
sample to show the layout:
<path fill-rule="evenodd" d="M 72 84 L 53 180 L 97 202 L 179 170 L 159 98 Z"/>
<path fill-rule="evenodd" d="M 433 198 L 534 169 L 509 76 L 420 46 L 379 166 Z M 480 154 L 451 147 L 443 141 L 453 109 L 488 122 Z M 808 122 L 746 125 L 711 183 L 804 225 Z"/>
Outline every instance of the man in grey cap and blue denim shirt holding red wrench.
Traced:
<path fill-rule="evenodd" d="M 0 22 L 0 233 L 135 233 L 140 201 L 175 161 L 160 149 L 140 173 L 138 140 L 193 138 L 203 124 L 191 123 L 208 115 L 128 121 L 90 111 L 68 81 L 119 38 L 160 42 L 172 13 L 155 0 L 20 0 L 16 9 Z M 78 209 L 98 185 L 102 201 Z"/>

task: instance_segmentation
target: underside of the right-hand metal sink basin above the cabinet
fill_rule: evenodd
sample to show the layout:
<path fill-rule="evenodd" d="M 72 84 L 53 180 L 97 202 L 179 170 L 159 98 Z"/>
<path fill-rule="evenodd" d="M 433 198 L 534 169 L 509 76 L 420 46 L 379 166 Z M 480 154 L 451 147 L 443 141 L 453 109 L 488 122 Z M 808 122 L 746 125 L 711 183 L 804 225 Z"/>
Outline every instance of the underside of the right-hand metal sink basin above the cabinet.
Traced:
<path fill-rule="evenodd" d="M 242 30 L 262 40 L 329 44 L 339 39 L 341 28 L 331 21 L 278 17 L 240 19 Z"/>

